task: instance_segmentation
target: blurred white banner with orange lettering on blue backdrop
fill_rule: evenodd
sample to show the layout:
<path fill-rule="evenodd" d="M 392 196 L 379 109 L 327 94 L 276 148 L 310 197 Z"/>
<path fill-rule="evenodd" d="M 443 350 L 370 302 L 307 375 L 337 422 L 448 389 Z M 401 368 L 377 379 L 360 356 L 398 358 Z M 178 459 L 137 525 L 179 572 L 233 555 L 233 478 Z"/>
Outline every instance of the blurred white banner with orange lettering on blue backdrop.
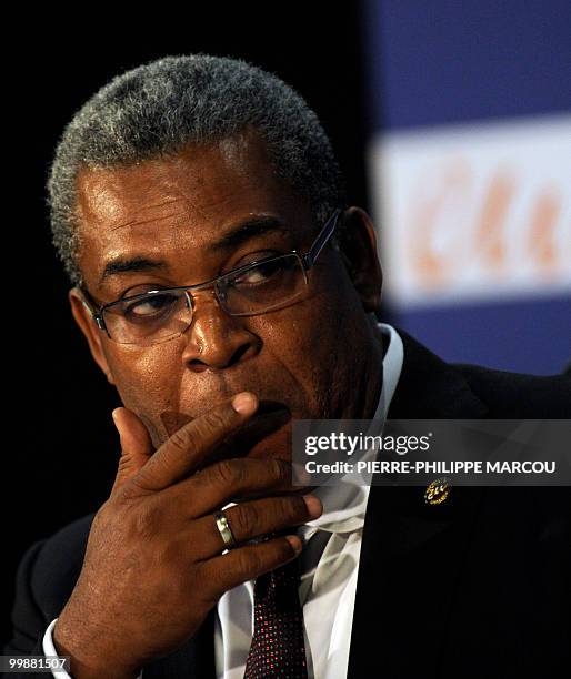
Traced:
<path fill-rule="evenodd" d="M 400 307 L 571 293 L 571 115 L 383 134 L 371 178 Z"/>

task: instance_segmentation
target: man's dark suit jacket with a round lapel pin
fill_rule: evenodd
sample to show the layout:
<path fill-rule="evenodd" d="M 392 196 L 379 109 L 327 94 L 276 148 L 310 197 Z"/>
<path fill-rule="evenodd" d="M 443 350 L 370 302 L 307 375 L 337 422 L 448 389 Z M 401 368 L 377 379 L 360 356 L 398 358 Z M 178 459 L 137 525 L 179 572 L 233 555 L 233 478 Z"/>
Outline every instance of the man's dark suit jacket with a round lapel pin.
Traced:
<path fill-rule="evenodd" d="M 405 333 L 391 418 L 571 418 L 571 381 L 450 365 Z M 349 677 L 568 677 L 571 490 L 372 487 Z M 17 576 L 6 653 L 41 653 L 78 578 L 92 515 L 36 543 Z M 181 602 L 183 605 L 183 602 Z M 213 677 L 213 614 L 144 679 Z"/>

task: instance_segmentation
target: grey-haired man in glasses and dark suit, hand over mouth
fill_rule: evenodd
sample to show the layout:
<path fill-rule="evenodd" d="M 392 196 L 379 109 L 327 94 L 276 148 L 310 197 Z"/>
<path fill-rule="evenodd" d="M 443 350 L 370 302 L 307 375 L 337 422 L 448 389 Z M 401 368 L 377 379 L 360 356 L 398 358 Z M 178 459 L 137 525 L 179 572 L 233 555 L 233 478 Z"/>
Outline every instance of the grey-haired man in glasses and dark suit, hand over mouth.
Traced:
<path fill-rule="evenodd" d="M 295 418 L 564 417 L 570 392 L 378 323 L 371 220 L 291 89 L 136 69 L 74 116 L 49 191 L 122 453 L 99 511 L 24 556 L 6 652 L 77 679 L 558 675 L 565 489 L 292 486 Z"/>

